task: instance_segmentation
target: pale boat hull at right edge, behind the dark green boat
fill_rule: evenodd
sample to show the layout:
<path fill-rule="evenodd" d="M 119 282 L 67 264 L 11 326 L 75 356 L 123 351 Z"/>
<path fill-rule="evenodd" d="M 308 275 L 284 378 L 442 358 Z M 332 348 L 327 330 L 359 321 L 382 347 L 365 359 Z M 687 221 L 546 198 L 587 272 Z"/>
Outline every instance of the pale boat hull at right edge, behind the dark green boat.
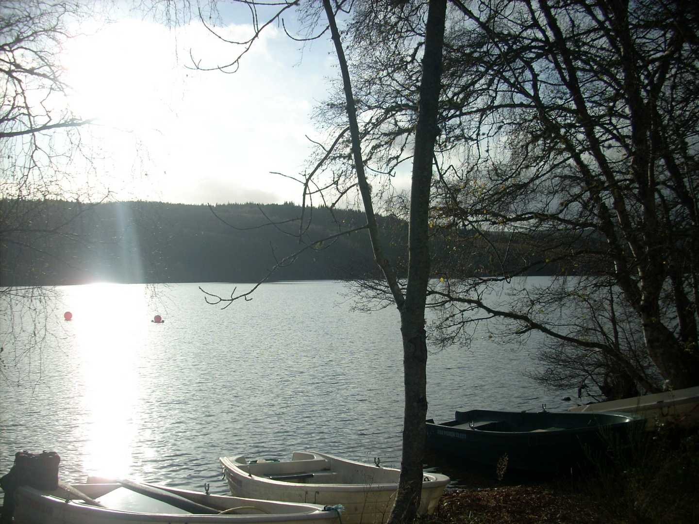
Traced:
<path fill-rule="evenodd" d="M 682 425 L 699 423 L 699 386 L 664 391 L 653 395 L 597 402 L 571 407 L 571 412 L 622 412 L 645 417 L 646 430 L 654 430 L 656 423 Z"/>

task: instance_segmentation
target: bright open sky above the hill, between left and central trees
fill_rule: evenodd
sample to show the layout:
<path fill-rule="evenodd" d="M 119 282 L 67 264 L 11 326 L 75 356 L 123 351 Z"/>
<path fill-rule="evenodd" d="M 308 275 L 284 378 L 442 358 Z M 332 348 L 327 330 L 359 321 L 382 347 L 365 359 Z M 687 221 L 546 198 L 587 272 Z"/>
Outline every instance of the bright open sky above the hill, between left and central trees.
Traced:
<path fill-rule="evenodd" d="M 226 15 L 225 38 L 249 34 L 249 15 Z M 120 200 L 173 203 L 299 202 L 286 177 L 303 170 L 306 136 L 320 139 L 310 112 L 338 75 L 329 38 L 311 45 L 268 27 L 236 73 L 196 71 L 231 61 L 235 50 L 200 20 L 178 29 L 134 15 L 83 24 L 62 64 L 71 108 L 94 118 L 89 136 L 100 172 Z"/>

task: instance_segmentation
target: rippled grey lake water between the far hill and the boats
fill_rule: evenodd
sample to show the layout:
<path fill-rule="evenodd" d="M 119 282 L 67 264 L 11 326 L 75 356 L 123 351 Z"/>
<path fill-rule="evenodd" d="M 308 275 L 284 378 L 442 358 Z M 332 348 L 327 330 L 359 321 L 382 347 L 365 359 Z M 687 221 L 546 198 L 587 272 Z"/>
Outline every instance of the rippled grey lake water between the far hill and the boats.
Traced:
<path fill-rule="evenodd" d="M 207 482 L 212 493 L 227 491 L 223 455 L 311 450 L 400 464 L 394 308 L 350 312 L 343 285 L 323 281 L 264 284 L 253 300 L 221 310 L 199 285 L 62 288 L 48 326 L 57 337 L 0 378 L 0 475 L 22 449 L 57 451 L 69 481 L 94 473 L 196 490 Z M 222 296 L 234 288 L 201 285 Z M 154 314 L 165 322 L 153 323 Z M 3 344 L 7 361 L 14 350 Z M 561 401 L 570 392 L 522 376 L 535 365 L 535 339 L 528 344 L 503 349 L 483 328 L 470 350 L 431 353 L 428 417 L 570 407 Z"/>

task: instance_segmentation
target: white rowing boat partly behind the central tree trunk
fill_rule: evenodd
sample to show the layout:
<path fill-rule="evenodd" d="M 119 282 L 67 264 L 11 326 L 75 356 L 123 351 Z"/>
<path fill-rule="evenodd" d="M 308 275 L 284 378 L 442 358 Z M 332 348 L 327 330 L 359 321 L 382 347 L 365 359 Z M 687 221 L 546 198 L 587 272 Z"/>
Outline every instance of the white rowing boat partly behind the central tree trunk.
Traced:
<path fill-rule="evenodd" d="M 233 495 L 264 500 L 342 504 L 343 524 L 382 524 L 398 490 L 400 470 L 345 460 L 324 453 L 298 452 L 291 460 L 219 459 Z M 424 473 L 419 514 L 431 514 L 449 477 Z"/>

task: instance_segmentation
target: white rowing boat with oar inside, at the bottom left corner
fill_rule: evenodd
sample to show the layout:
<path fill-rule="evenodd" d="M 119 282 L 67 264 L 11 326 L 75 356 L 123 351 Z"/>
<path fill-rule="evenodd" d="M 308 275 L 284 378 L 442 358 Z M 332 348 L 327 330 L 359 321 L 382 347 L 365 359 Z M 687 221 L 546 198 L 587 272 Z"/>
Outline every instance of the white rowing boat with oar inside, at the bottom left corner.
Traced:
<path fill-rule="evenodd" d="M 166 486 L 88 483 L 15 490 L 15 524 L 339 524 L 338 511 Z"/>

